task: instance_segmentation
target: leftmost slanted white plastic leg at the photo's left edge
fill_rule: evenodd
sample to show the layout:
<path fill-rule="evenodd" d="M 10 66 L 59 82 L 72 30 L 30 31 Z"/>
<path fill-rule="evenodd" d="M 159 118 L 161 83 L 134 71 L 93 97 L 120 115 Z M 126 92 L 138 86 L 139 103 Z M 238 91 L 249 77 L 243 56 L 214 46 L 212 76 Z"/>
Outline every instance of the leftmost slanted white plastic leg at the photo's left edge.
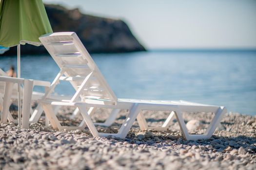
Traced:
<path fill-rule="evenodd" d="M 11 104 L 12 89 L 13 89 L 13 83 L 6 82 L 5 88 L 4 88 L 1 123 L 7 122 L 9 107 Z"/>

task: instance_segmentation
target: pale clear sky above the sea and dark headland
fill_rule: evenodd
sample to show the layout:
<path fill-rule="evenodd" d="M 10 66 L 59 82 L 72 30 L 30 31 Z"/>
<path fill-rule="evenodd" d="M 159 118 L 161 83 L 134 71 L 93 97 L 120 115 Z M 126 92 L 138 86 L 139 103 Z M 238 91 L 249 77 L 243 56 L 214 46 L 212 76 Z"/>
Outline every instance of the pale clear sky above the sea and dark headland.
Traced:
<path fill-rule="evenodd" d="M 43 0 L 124 20 L 147 49 L 256 49 L 256 0 Z"/>

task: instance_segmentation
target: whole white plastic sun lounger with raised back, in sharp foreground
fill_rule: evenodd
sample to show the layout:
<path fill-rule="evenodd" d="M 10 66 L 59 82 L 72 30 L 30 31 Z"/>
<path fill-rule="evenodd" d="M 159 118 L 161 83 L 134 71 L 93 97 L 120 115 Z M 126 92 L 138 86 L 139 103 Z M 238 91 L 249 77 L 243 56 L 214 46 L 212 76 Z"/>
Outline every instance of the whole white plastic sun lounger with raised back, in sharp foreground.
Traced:
<path fill-rule="evenodd" d="M 226 109 L 223 106 L 205 105 L 194 102 L 117 99 L 76 33 L 62 32 L 45 34 L 39 37 L 39 39 L 60 68 L 58 75 L 46 91 L 45 96 L 39 100 L 54 129 L 84 129 L 87 125 L 93 136 L 112 135 L 124 138 L 136 118 L 141 130 L 150 128 L 166 130 L 172 123 L 174 116 L 176 116 L 183 137 L 188 140 L 197 140 L 210 138 L 223 114 L 226 113 Z M 76 93 L 71 99 L 55 100 L 51 98 L 51 92 L 60 81 L 69 81 L 76 90 Z M 83 121 L 76 127 L 61 126 L 53 112 L 52 108 L 54 105 L 75 106 L 77 113 L 81 113 Z M 87 110 L 87 108 L 89 109 Z M 98 133 L 95 124 L 90 118 L 97 108 L 113 109 L 111 116 L 105 123 L 95 123 L 100 125 L 111 125 L 120 109 L 129 110 L 129 114 L 117 134 Z M 142 110 L 170 111 L 170 115 L 161 127 L 149 127 L 141 113 Z M 215 117 L 204 134 L 192 135 L 188 133 L 186 124 L 182 118 L 183 112 L 211 112 L 215 114 Z"/>

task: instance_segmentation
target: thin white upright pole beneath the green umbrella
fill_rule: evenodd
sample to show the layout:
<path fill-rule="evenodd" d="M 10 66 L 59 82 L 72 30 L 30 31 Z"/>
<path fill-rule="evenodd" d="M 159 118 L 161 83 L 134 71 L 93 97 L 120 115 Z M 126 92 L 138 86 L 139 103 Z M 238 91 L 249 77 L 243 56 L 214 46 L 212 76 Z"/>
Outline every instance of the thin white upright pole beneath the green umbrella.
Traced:
<path fill-rule="evenodd" d="M 17 46 L 17 55 L 18 55 L 18 67 L 17 67 L 17 76 L 20 78 L 20 44 Z M 18 84 L 18 123 L 21 127 L 21 97 L 20 97 L 20 84 Z"/>

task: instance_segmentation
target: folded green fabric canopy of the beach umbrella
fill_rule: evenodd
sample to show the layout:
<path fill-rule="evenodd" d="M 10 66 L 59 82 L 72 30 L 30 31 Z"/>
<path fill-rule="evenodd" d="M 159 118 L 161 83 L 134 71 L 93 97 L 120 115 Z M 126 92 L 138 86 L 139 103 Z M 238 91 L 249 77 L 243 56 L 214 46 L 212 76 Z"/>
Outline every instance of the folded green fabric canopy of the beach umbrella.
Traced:
<path fill-rule="evenodd" d="M 42 0 L 0 0 L 1 46 L 39 46 L 39 36 L 52 32 Z"/>

